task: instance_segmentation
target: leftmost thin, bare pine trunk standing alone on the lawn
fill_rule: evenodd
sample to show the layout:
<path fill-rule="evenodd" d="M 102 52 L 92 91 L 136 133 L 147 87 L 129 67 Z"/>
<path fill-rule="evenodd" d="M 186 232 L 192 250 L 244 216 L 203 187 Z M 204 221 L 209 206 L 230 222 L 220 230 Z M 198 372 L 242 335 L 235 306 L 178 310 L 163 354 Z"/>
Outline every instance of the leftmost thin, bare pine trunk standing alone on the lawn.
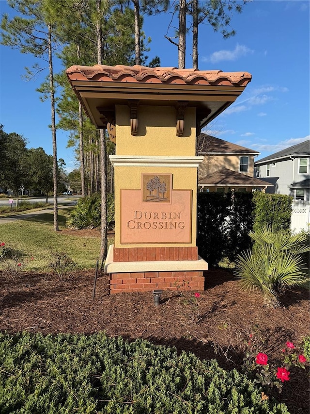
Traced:
<path fill-rule="evenodd" d="M 57 143 L 56 143 L 56 123 L 55 123 L 55 95 L 53 81 L 53 59 L 52 59 L 52 25 L 48 24 L 48 64 L 49 64 L 49 88 L 51 104 L 51 128 L 53 141 L 53 183 L 54 183 L 54 231 L 58 232 L 58 182 L 57 182 Z"/>

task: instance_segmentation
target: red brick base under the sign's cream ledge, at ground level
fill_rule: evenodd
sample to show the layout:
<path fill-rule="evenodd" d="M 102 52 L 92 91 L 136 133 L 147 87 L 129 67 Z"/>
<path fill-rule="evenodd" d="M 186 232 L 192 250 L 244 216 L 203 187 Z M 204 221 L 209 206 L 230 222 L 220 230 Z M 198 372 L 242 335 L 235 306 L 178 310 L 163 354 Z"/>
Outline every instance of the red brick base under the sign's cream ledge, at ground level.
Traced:
<path fill-rule="evenodd" d="M 109 273 L 109 292 L 162 290 L 204 290 L 202 271 Z"/>

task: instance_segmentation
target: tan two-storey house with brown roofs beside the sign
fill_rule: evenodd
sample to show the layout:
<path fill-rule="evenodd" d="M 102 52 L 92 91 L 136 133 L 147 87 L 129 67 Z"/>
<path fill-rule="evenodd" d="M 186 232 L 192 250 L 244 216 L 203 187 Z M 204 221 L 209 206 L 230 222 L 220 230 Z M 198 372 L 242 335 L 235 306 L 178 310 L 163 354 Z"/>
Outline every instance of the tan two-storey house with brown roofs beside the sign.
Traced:
<path fill-rule="evenodd" d="M 259 155 L 254 149 L 201 133 L 197 138 L 197 154 L 203 155 L 198 169 L 201 191 L 264 191 L 272 185 L 254 178 L 254 157 Z"/>

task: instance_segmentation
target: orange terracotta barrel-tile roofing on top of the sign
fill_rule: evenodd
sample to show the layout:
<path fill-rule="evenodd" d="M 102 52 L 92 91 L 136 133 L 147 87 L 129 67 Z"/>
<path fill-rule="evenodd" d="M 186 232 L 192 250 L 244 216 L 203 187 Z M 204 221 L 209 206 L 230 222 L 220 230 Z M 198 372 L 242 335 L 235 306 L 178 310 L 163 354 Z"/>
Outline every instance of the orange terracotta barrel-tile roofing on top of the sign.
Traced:
<path fill-rule="evenodd" d="M 179 83 L 199 85 L 246 86 L 252 79 L 248 72 L 221 70 L 177 69 L 147 66 L 71 66 L 66 70 L 71 81 Z"/>

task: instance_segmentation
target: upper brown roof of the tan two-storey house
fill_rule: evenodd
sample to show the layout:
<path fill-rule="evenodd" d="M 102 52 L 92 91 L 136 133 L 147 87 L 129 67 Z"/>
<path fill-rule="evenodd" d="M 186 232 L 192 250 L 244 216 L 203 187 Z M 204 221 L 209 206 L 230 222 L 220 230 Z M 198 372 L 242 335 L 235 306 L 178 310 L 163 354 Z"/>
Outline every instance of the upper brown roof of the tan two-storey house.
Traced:
<path fill-rule="evenodd" d="M 207 153 L 242 153 L 242 154 L 259 154 L 255 149 L 241 147 L 241 145 L 224 141 L 212 135 L 201 133 L 197 138 L 197 148 L 199 154 Z"/>

